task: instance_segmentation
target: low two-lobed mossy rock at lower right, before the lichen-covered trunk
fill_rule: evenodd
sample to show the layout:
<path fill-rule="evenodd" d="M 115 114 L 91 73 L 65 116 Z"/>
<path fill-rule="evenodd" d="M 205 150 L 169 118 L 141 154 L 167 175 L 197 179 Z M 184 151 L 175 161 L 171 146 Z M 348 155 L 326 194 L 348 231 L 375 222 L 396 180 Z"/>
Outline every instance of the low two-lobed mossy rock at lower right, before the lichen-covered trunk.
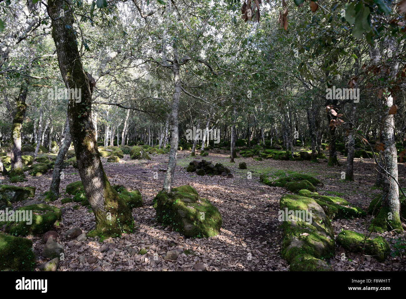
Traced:
<path fill-rule="evenodd" d="M 351 230 L 343 230 L 340 232 L 337 236 L 337 243 L 344 249 L 352 252 L 363 252 L 363 248 L 365 248 L 365 254 L 373 256 L 381 262 L 384 261 L 390 253 L 389 243 L 381 236 L 371 235 L 365 240 L 364 234 Z"/>

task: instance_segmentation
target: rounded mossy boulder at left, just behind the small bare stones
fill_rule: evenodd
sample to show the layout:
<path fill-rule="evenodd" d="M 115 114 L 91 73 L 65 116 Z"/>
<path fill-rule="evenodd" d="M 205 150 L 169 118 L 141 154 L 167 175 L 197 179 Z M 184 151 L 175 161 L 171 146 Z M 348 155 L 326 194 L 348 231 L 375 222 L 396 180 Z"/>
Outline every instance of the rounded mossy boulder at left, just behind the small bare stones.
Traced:
<path fill-rule="evenodd" d="M 17 208 L 15 213 L 32 211 L 32 220 L 30 224 L 27 222 L 9 221 L 6 224 L 6 233 L 19 235 L 43 234 L 51 230 L 56 221 L 62 220 L 60 209 L 47 204 L 32 204 Z"/>

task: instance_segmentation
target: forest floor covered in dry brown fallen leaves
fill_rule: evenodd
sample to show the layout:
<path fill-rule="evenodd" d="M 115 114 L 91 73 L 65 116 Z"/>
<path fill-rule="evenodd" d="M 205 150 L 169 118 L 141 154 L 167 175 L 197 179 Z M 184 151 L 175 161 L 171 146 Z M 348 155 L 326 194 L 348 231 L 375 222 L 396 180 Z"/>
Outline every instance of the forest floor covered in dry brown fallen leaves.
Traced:
<path fill-rule="evenodd" d="M 289 265 L 281 257 L 281 228 L 278 221 L 279 199 L 287 191 L 279 187 L 270 187 L 259 182 L 262 172 L 270 169 L 294 170 L 315 176 L 324 183 L 318 188 L 320 195 L 335 195 L 367 210 L 371 199 L 381 192 L 374 188 L 375 169 L 372 159 L 354 159 L 354 182 L 341 180 L 341 171 L 345 171 L 346 159 L 339 157 L 341 166 L 327 167 L 327 160 L 320 163 L 309 161 L 292 162 L 281 160 L 255 161 L 253 158 L 237 158 L 236 163 L 229 163 L 229 152 L 209 151 L 203 159 L 220 162 L 229 167 L 233 178 L 222 176 L 197 176 L 187 173 L 184 169 L 192 160 L 190 151 L 178 152 L 177 169 L 173 187 L 190 184 L 200 197 L 209 199 L 220 211 L 222 229 L 220 234 L 210 238 L 187 239 L 171 228 L 165 228 L 155 220 L 152 200 L 162 189 L 168 155 L 152 156 L 152 160 L 130 160 L 125 155 L 119 163 L 107 163 L 102 158 L 104 170 L 111 184 L 123 184 L 138 189 L 144 199 L 144 206 L 134 208 L 132 214 L 136 223 L 133 234 L 122 238 L 108 238 L 99 243 L 87 238 L 85 241 L 67 241 L 65 232 L 73 227 L 80 227 L 85 233 L 95 226 L 94 215 L 89 209 L 80 206 L 73 210 L 76 203 L 62 205 L 60 199 L 53 202 L 55 206 L 65 209 L 63 220 L 57 227 L 58 243 L 65 248 L 65 260 L 60 262 L 59 271 L 192 271 L 195 264 L 204 265 L 206 271 L 287 271 Z M 201 156 L 196 156 L 201 160 Z M 238 169 L 238 163 L 246 162 L 248 169 Z M 67 184 L 80 180 L 78 169 L 71 166 L 64 169 L 65 178 L 60 184 L 61 197 L 69 197 L 65 193 Z M 252 178 L 248 179 L 247 172 Z M 158 178 L 156 178 L 156 172 Z M 155 178 L 154 179 L 154 175 Z M 43 194 L 49 190 L 52 170 L 48 173 L 32 177 L 28 181 L 17 183 L 19 186 L 35 186 L 37 188 L 36 203 L 42 202 Z M 4 184 L 8 178 L 0 176 Z M 399 164 L 399 182 L 406 182 L 406 167 Z M 32 200 L 32 199 L 31 199 Z M 15 203 L 14 207 L 24 202 Z M 335 235 L 341 230 L 358 230 L 365 232 L 370 216 L 356 219 L 335 219 L 332 222 Z M 391 244 L 393 238 L 402 237 L 391 232 L 380 234 Z M 40 257 L 43 248 L 42 236 L 28 236 L 34 245 L 37 256 L 36 267 L 46 262 Z M 101 252 L 100 247 L 108 245 L 109 250 Z M 146 249 L 147 254 L 132 254 L 128 246 Z M 392 245 L 391 245 L 392 246 Z M 106 247 L 104 247 L 106 248 Z M 164 260 L 168 251 L 179 251 L 176 260 Z M 105 251 L 105 250 L 102 250 Z M 341 260 L 341 253 L 346 259 Z M 155 259 L 154 259 L 155 254 Z M 156 256 L 158 255 L 158 258 Z M 91 258 L 95 257 L 95 258 Z M 89 258 L 91 258 L 89 260 Z M 89 263 L 89 261 L 91 263 Z M 328 260 L 335 271 L 405 271 L 406 258 L 387 258 L 378 262 L 370 256 L 362 256 L 346 252 L 336 244 L 336 253 Z"/>

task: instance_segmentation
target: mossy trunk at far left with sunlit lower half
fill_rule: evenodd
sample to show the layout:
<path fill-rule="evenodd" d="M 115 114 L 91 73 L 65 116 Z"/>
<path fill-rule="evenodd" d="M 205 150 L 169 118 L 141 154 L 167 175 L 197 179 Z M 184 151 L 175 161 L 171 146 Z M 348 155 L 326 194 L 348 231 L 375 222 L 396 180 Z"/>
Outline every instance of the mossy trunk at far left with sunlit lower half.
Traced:
<path fill-rule="evenodd" d="M 21 126 L 25 119 L 27 104 L 26 98 L 28 93 L 27 81 L 21 86 L 20 93 L 16 99 L 17 111 L 15 113 L 11 132 L 13 133 L 13 145 L 11 147 L 11 170 L 22 168 L 21 160 Z"/>

